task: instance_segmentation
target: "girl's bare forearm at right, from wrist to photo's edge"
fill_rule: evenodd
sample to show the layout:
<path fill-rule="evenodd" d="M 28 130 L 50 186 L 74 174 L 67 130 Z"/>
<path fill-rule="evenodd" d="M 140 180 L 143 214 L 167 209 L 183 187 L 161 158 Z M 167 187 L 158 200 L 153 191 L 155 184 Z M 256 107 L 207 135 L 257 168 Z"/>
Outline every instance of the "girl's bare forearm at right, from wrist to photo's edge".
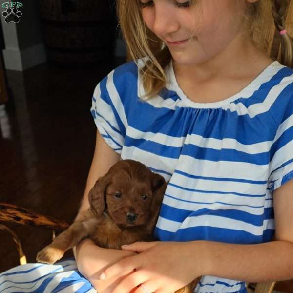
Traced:
<path fill-rule="evenodd" d="M 291 242 L 273 241 L 241 245 L 193 241 L 190 245 L 191 250 L 194 250 L 193 255 L 198 255 L 198 249 L 202 251 L 200 261 L 204 264 L 205 275 L 245 282 L 270 282 L 293 278 Z"/>

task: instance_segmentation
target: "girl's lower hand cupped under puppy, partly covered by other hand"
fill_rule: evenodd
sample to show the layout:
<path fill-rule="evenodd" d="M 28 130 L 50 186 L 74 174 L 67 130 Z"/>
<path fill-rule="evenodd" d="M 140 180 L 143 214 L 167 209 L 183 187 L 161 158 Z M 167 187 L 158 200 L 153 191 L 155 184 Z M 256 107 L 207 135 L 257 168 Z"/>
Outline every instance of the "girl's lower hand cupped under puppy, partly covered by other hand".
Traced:
<path fill-rule="evenodd" d="M 99 275 L 109 265 L 134 254 L 132 251 L 100 248 L 92 240 L 85 239 L 76 247 L 76 263 L 79 271 L 99 293 L 112 293 L 127 273 L 121 272 L 106 281 L 101 281 Z"/>

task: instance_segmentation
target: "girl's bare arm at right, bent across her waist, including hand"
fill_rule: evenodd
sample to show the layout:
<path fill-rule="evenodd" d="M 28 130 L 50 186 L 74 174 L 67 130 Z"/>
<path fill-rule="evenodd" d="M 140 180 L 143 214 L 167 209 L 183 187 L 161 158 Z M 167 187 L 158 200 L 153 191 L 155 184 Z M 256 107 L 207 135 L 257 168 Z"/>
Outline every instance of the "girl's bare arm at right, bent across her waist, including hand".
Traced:
<path fill-rule="evenodd" d="M 144 284 L 149 292 L 174 292 L 200 275 L 246 282 L 293 278 L 293 180 L 274 191 L 275 241 L 238 245 L 211 241 L 136 242 L 126 257 L 100 276 L 107 280 L 132 272 L 113 293 Z M 135 292 L 143 292 L 138 289 Z"/>

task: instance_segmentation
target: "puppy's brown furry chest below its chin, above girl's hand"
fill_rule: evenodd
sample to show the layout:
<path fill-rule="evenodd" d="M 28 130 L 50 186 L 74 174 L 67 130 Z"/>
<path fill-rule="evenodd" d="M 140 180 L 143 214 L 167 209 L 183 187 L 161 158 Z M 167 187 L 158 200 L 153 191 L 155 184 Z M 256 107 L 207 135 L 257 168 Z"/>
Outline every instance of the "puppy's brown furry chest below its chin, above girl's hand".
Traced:
<path fill-rule="evenodd" d="M 90 238 L 100 247 L 121 249 L 124 244 L 153 240 L 144 226 L 119 228 L 109 217 L 96 226 Z"/>

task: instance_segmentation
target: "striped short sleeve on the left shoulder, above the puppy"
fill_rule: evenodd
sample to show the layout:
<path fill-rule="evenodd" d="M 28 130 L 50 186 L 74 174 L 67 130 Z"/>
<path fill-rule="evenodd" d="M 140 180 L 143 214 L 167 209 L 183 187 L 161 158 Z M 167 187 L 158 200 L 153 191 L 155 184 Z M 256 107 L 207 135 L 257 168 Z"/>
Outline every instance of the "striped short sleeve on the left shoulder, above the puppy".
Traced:
<path fill-rule="evenodd" d="M 127 120 L 124 105 L 109 73 L 96 87 L 93 93 L 91 114 L 105 142 L 121 154 L 125 141 Z"/>

